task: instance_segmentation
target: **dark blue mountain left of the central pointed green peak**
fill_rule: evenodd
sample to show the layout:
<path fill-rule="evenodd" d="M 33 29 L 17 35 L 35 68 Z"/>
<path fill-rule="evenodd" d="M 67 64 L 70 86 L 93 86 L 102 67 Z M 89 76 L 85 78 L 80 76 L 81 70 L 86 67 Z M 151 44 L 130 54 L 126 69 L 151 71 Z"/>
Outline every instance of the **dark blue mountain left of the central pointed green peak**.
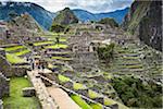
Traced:
<path fill-rule="evenodd" d="M 52 20 L 55 16 L 40 5 L 30 2 L 0 2 L 0 20 L 10 20 L 10 12 L 17 14 L 28 13 L 30 14 L 43 28 L 48 29 Z"/>

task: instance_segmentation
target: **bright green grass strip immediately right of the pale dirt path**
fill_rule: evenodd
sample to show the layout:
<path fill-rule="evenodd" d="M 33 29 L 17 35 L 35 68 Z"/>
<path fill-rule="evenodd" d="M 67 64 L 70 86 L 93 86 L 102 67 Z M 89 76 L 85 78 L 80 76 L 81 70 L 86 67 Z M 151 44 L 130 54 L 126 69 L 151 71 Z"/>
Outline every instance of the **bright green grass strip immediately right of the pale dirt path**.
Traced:
<path fill-rule="evenodd" d="M 77 95 L 71 95 L 71 98 L 82 108 L 82 109 L 92 109 L 83 98 Z"/>

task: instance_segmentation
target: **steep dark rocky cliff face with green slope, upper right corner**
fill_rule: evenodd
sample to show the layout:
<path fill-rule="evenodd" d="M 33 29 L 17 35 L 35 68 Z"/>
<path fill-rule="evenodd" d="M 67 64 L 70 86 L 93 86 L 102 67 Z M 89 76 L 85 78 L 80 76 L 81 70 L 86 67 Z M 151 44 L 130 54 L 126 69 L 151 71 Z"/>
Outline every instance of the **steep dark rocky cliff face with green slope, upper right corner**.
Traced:
<path fill-rule="evenodd" d="M 162 51 L 162 1 L 135 0 L 123 27 L 145 44 Z"/>

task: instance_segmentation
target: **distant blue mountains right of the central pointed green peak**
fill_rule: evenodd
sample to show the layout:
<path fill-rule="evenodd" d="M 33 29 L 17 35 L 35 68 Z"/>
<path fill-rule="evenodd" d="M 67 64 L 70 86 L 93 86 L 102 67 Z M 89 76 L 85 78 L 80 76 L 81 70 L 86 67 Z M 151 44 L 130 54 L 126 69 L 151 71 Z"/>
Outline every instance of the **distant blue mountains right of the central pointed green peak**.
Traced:
<path fill-rule="evenodd" d="M 129 8 L 125 8 L 123 10 L 116 10 L 114 12 L 108 12 L 108 13 L 91 13 L 85 10 L 76 9 L 73 10 L 75 15 L 83 22 L 86 21 L 100 21 L 101 19 L 104 17 L 112 17 L 114 19 L 117 23 L 122 23 L 124 20 L 124 16 L 128 13 Z"/>

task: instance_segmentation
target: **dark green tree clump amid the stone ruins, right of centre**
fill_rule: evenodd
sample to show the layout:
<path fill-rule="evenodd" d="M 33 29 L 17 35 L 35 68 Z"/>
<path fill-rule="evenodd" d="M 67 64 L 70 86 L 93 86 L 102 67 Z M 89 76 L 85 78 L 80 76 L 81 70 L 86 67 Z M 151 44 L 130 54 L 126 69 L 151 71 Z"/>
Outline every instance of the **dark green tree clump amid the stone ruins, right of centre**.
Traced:
<path fill-rule="evenodd" d="M 114 46 L 114 44 L 110 44 L 106 46 L 99 47 L 97 49 L 99 58 L 106 61 L 113 58 Z"/>

